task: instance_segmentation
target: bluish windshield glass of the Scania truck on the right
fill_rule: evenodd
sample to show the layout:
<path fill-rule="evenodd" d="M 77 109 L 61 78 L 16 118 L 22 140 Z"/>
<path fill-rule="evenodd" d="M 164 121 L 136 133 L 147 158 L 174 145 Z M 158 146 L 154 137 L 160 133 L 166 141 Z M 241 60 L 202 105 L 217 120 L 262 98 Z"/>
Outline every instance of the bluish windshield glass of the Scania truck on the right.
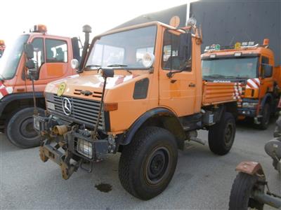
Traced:
<path fill-rule="evenodd" d="M 256 78 L 258 57 L 202 60 L 202 76 L 207 78 Z"/>

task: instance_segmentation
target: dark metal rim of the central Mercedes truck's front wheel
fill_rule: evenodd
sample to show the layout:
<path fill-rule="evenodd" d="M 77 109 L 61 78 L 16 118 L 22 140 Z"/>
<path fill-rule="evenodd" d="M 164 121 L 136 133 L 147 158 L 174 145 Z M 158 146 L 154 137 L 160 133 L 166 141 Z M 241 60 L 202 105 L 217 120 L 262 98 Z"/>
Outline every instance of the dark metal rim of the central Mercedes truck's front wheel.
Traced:
<path fill-rule="evenodd" d="M 166 147 L 155 148 L 145 163 L 145 181 L 150 186 L 155 186 L 161 182 L 169 172 L 170 162 L 171 153 Z"/>

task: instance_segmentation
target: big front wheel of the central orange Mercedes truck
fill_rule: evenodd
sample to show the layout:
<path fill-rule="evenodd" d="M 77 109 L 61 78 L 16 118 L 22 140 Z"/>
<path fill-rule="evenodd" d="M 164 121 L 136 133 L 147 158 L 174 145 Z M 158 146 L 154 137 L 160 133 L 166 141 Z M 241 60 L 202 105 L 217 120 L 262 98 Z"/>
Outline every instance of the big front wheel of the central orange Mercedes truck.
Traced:
<path fill-rule="evenodd" d="M 176 139 L 160 127 L 145 127 L 124 146 L 119 160 L 123 188 L 141 200 L 150 200 L 169 185 L 178 161 Z"/>

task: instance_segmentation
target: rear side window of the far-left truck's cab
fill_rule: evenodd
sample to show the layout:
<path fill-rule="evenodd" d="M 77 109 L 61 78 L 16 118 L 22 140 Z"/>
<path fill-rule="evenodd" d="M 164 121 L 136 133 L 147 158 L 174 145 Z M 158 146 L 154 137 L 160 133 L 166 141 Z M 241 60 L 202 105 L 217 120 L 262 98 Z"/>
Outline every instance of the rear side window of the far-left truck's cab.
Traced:
<path fill-rule="evenodd" d="M 67 62 L 66 41 L 46 38 L 45 43 L 47 63 Z"/>

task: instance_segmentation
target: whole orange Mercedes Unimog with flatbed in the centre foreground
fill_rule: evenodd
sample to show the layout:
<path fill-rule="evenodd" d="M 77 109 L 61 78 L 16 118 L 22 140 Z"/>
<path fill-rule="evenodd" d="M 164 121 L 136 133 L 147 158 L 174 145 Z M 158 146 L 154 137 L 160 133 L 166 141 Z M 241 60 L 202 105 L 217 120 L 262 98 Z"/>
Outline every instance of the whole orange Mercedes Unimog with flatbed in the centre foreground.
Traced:
<path fill-rule="evenodd" d="M 161 22 L 93 38 L 79 74 L 46 85 L 45 116 L 34 116 L 41 160 L 56 162 L 69 179 L 79 166 L 91 172 L 93 162 L 119 152 L 122 186 L 149 200 L 171 181 L 178 148 L 204 143 L 197 130 L 209 130 L 211 151 L 226 155 L 235 139 L 236 87 L 202 82 L 201 43 L 195 25 Z"/>

